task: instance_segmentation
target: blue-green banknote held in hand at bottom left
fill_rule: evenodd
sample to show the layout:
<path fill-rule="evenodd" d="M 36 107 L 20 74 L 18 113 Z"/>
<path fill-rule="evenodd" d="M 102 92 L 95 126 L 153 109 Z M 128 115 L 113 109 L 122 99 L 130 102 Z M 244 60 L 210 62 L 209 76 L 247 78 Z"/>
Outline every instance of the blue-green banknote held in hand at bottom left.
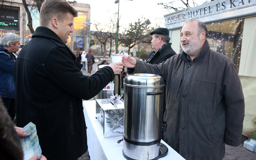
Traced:
<path fill-rule="evenodd" d="M 24 153 L 23 160 L 29 160 L 34 154 L 38 155 L 38 158 L 42 154 L 41 147 L 39 145 L 39 140 L 36 131 L 36 125 L 32 122 L 28 123 L 25 127 L 21 129 L 23 132 L 27 132 L 27 137 L 21 138 L 21 145 Z"/>

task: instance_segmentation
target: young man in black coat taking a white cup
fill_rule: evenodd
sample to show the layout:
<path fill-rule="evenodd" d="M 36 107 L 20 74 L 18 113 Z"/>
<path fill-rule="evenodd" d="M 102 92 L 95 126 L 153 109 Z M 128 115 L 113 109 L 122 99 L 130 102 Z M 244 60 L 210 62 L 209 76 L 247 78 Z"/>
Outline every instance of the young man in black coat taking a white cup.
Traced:
<path fill-rule="evenodd" d="M 82 99 L 98 94 L 122 63 L 112 63 L 91 77 L 65 43 L 78 12 L 65 0 L 45 0 L 40 27 L 17 57 L 14 76 L 17 126 L 36 124 L 42 154 L 48 160 L 77 160 L 87 151 Z"/>

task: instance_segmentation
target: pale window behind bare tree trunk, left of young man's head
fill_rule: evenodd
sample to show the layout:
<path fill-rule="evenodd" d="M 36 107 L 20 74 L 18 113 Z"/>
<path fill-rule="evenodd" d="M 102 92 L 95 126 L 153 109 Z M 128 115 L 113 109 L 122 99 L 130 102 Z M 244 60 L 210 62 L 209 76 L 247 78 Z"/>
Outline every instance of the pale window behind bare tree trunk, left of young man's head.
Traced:
<path fill-rule="evenodd" d="M 28 10 L 30 11 L 30 14 L 32 17 L 32 27 L 35 31 L 36 28 L 39 27 L 39 25 L 40 25 L 39 11 L 38 11 L 37 7 L 34 7 L 34 6 L 28 6 Z M 28 16 L 27 16 L 27 12 L 26 12 L 26 31 L 30 31 L 30 29 L 27 26 L 27 23 L 28 23 Z"/>

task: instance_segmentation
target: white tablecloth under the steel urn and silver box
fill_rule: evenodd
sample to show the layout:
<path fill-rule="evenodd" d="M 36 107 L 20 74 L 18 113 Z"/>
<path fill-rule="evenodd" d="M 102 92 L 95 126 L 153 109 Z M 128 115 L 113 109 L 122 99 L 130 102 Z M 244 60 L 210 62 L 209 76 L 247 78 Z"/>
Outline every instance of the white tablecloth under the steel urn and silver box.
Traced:
<path fill-rule="evenodd" d="M 97 124 L 96 101 L 83 101 L 84 116 L 87 126 L 87 144 L 91 160 L 126 160 L 123 157 L 123 142 L 117 143 L 122 136 L 104 138 Z M 168 148 L 168 154 L 161 160 L 185 160 L 163 140 L 161 143 Z"/>

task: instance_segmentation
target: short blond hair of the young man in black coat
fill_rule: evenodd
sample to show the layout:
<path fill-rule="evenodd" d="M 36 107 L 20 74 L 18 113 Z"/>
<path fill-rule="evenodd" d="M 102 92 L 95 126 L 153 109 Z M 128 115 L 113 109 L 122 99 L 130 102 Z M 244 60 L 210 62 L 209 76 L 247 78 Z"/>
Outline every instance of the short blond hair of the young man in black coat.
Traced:
<path fill-rule="evenodd" d="M 40 26 L 47 27 L 53 17 L 63 22 L 67 13 L 78 16 L 78 11 L 65 0 L 45 0 L 40 9 Z"/>

